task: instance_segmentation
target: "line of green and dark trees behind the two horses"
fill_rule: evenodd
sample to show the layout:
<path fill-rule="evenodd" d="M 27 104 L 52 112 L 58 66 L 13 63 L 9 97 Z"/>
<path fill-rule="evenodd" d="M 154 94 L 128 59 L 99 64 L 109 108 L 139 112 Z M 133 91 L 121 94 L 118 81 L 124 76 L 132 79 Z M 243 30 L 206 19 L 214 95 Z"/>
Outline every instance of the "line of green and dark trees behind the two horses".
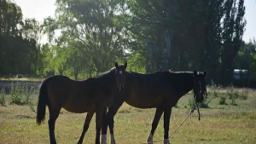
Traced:
<path fill-rule="evenodd" d="M 229 85 L 234 68 L 256 79 L 255 40 L 244 43 L 243 0 L 57 0 L 55 17 L 23 20 L 1 1 L 0 74 L 93 77 L 128 61 L 128 71 L 208 70 Z M 49 43 L 40 44 L 42 34 Z"/>

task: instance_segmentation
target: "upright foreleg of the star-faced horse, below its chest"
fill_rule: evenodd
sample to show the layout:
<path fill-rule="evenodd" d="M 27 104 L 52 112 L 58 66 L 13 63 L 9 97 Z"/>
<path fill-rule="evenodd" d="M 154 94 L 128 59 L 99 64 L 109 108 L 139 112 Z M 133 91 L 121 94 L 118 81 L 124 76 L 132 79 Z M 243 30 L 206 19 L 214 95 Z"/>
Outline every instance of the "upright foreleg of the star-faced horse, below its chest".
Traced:
<path fill-rule="evenodd" d="M 103 116 L 104 109 L 98 108 L 96 110 L 96 144 L 100 144 L 100 135 L 102 130 L 102 116 Z"/>

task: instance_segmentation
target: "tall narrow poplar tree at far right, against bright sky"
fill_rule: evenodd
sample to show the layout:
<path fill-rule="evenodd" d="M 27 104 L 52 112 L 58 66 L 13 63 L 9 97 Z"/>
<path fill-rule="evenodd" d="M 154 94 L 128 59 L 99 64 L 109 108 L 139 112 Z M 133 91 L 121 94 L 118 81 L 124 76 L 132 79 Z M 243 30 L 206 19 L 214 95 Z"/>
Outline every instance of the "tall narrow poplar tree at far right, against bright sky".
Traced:
<path fill-rule="evenodd" d="M 241 48 L 241 38 L 245 31 L 244 1 L 227 0 L 224 3 L 224 25 L 221 49 L 221 65 L 219 69 L 221 84 L 227 85 L 231 82 L 234 59 Z"/>

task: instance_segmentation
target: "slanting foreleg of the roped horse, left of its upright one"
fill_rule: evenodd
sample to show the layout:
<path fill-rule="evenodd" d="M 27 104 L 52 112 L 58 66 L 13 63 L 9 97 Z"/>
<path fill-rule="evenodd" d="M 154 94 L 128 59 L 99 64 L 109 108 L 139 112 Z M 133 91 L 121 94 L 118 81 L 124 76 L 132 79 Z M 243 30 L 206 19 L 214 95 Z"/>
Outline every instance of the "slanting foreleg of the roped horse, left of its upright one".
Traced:
<path fill-rule="evenodd" d="M 152 141 L 153 141 L 154 131 L 157 128 L 157 125 L 160 121 L 160 118 L 161 118 L 163 112 L 164 111 L 162 109 L 156 108 L 156 111 L 155 111 L 155 114 L 154 114 L 154 120 L 153 120 L 152 127 L 151 127 L 151 131 L 150 131 L 150 134 L 148 135 L 148 139 L 147 139 L 148 143 L 153 143 Z"/>

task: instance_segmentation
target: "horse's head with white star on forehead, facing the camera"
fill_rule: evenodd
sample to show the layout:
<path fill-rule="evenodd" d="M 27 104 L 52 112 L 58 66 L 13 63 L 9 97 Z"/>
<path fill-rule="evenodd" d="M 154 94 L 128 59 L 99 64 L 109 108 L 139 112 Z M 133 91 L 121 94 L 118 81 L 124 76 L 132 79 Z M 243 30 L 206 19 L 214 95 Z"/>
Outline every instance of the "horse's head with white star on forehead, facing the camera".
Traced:
<path fill-rule="evenodd" d="M 117 62 L 115 62 L 115 82 L 119 91 L 125 88 L 126 67 L 127 62 L 125 62 L 125 65 L 119 65 Z"/>

